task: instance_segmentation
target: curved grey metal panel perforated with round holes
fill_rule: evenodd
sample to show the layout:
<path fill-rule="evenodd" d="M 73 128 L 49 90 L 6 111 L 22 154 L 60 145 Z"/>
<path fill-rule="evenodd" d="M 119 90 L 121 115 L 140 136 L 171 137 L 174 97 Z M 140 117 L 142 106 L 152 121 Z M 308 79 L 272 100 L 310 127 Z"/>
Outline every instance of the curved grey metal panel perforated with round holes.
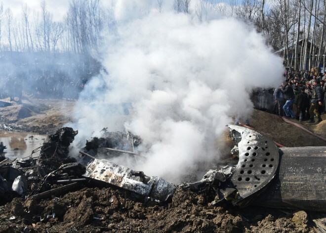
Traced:
<path fill-rule="evenodd" d="M 236 141 L 241 141 L 238 143 L 239 162 L 231 180 L 242 199 L 273 179 L 279 164 L 279 148 L 272 140 L 254 130 L 236 125 L 228 127 L 241 135 L 234 134 L 238 135 Z"/>

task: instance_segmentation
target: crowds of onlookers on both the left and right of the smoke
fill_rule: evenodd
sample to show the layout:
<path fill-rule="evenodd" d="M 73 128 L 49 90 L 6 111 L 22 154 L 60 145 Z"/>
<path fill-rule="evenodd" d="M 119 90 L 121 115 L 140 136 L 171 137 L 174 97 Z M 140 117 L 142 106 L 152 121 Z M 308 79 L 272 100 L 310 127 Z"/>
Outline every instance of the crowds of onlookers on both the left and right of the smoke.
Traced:
<path fill-rule="evenodd" d="M 41 98 L 77 99 L 94 76 L 84 69 L 33 69 L 0 77 L 0 98 L 21 102 L 22 92 Z M 276 89 L 256 89 L 251 95 L 255 108 L 309 123 L 322 121 L 326 111 L 326 72 L 285 71 L 285 81 Z M 17 99 L 15 99 L 17 98 Z M 316 121 L 315 121 L 316 117 Z M 238 116 L 239 118 L 239 116 Z M 236 119 L 236 122 L 239 119 Z M 246 121 L 249 125 L 249 122 Z"/>

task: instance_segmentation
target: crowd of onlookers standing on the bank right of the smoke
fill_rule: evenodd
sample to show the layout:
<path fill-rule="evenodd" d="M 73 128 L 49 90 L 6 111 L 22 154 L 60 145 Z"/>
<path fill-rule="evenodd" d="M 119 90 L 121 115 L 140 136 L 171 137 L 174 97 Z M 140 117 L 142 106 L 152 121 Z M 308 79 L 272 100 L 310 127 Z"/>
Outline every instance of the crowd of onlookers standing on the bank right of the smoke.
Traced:
<path fill-rule="evenodd" d="M 273 113 L 308 123 L 321 122 L 326 111 L 326 72 L 285 72 L 285 78 L 274 91 Z"/>

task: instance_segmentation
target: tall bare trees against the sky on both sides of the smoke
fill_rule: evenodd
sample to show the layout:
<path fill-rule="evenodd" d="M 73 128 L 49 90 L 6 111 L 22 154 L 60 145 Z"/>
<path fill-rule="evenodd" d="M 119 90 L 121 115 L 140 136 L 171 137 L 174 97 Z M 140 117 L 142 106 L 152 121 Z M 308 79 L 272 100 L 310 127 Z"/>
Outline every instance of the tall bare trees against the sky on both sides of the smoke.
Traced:
<path fill-rule="evenodd" d="M 280 51 L 284 65 L 310 70 L 325 64 L 326 0 L 153 0 L 159 12 L 173 1 L 176 12 L 206 21 L 212 13 L 236 17 L 254 26 L 266 44 Z M 152 2 L 152 3 L 153 3 Z M 22 5 L 15 17 L 0 3 L 0 51 L 97 51 L 103 30 L 114 27 L 101 0 L 69 0 L 62 20 L 53 20 L 45 0 L 38 9 Z"/>

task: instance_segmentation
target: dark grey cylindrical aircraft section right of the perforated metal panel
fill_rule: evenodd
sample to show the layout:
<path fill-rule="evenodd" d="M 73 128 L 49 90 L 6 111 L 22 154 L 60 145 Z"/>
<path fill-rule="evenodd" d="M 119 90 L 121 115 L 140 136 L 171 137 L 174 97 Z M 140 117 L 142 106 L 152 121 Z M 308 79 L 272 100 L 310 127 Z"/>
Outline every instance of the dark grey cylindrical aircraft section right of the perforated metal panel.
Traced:
<path fill-rule="evenodd" d="M 326 211 L 326 146 L 284 147 L 279 171 L 255 205 Z"/>

